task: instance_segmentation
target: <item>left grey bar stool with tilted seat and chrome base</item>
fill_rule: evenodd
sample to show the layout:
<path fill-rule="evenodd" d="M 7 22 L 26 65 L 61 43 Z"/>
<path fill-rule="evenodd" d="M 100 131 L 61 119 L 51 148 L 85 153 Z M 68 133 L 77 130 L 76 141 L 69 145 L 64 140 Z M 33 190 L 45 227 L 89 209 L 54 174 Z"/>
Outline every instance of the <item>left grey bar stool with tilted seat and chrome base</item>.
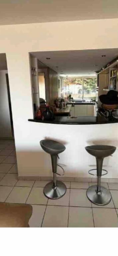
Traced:
<path fill-rule="evenodd" d="M 53 181 L 44 187 L 44 195 L 50 199 L 58 199 L 66 192 L 65 184 L 57 181 L 57 157 L 59 158 L 58 154 L 65 150 L 65 146 L 55 140 L 41 140 L 40 145 L 45 152 L 51 155 L 53 170 Z"/>

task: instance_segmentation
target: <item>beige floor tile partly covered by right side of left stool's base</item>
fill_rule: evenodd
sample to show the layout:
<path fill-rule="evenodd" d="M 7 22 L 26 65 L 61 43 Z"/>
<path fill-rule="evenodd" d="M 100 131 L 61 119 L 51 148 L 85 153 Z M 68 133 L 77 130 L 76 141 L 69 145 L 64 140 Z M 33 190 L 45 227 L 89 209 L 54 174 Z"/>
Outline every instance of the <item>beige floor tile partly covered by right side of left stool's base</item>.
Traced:
<path fill-rule="evenodd" d="M 48 205 L 69 206 L 69 194 L 70 194 L 70 189 L 67 189 L 65 195 L 62 196 L 61 198 L 49 199 Z"/>

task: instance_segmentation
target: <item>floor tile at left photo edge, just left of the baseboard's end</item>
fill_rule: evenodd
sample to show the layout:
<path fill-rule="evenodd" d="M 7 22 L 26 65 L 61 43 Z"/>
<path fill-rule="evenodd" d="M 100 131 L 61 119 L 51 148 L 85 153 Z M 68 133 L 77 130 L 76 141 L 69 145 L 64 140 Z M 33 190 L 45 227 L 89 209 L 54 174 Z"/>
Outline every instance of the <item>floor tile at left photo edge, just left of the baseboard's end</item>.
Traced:
<path fill-rule="evenodd" d="M 16 182 L 18 181 L 17 179 L 17 174 L 10 174 L 7 173 L 5 177 L 0 181 L 0 185 L 3 186 L 14 186 Z"/>

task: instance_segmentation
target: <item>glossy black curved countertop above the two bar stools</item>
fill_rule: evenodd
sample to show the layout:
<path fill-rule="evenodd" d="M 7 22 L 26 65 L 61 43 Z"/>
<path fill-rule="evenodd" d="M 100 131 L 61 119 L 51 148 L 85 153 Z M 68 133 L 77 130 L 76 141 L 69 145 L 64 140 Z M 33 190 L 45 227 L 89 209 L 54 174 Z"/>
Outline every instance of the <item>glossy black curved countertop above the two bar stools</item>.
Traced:
<path fill-rule="evenodd" d="M 116 118 L 106 118 L 104 116 L 79 116 L 76 118 L 71 118 L 70 116 L 55 116 L 55 119 L 51 121 L 28 119 L 28 121 L 36 123 L 47 123 L 47 124 L 107 124 L 107 123 L 117 123 Z"/>

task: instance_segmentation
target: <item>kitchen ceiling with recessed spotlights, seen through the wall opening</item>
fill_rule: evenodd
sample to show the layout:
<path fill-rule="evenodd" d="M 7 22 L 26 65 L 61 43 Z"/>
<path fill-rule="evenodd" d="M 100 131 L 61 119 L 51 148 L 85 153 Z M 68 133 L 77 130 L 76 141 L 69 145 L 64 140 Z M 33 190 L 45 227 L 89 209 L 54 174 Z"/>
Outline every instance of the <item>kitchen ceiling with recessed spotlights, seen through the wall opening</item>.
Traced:
<path fill-rule="evenodd" d="M 95 71 L 118 57 L 118 49 L 32 52 L 32 55 L 61 76 L 93 76 Z"/>

